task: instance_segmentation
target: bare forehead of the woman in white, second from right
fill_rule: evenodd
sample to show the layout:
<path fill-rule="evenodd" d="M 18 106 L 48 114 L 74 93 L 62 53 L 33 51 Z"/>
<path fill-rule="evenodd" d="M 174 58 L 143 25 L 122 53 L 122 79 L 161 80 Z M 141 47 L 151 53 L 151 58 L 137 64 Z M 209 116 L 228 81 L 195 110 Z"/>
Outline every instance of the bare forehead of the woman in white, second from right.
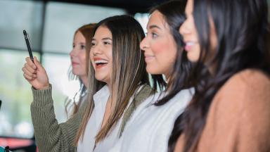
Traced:
<path fill-rule="evenodd" d="M 158 25 L 158 27 L 165 27 L 165 20 L 164 17 L 162 15 L 162 13 L 160 13 L 159 11 L 154 11 L 149 18 L 148 24 L 147 24 L 147 28 L 149 29 L 149 27 L 151 25 Z"/>

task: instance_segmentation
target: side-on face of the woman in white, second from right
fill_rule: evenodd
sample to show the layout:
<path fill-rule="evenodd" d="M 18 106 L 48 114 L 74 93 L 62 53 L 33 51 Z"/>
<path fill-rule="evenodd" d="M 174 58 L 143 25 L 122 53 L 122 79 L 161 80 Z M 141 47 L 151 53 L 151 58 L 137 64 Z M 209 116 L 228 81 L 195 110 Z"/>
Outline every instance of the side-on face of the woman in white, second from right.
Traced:
<path fill-rule="evenodd" d="M 140 44 L 144 52 L 146 70 L 150 74 L 164 74 L 167 78 L 176 60 L 176 43 L 169 31 L 169 25 L 159 11 L 149 18 L 147 35 Z"/>

